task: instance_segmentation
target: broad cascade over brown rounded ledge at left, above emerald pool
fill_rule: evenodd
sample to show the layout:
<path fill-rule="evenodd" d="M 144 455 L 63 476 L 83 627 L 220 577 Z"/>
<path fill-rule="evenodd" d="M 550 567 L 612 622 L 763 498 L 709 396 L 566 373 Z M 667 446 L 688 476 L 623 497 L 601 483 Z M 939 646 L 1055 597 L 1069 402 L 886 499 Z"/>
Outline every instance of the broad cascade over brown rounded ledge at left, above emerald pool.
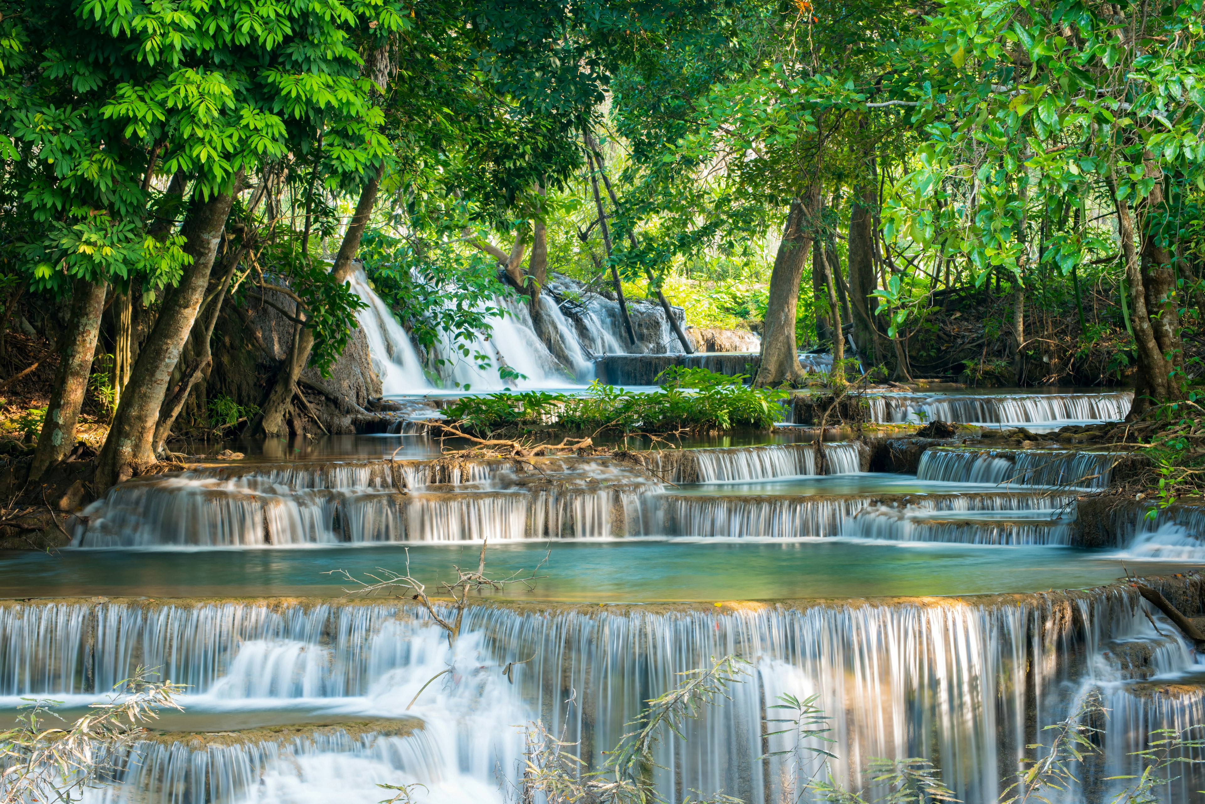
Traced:
<path fill-rule="evenodd" d="M 82 547 L 289 546 L 602 538 L 646 533 L 640 474 L 586 459 L 375 460 L 201 468 L 112 488 L 84 510 Z"/>

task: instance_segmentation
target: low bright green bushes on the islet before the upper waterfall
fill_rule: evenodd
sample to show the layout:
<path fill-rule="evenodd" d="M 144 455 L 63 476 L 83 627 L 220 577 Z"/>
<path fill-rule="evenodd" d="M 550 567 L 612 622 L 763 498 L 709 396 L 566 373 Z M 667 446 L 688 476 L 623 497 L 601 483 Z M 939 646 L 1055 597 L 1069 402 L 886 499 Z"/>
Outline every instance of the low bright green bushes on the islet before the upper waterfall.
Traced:
<path fill-rule="evenodd" d="M 629 392 L 599 382 L 580 397 L 545 392 L 465 397 L 451 405 L 448 418 L 475 433 L 558 424 L 588 433 L 698 433 L 748 427 L 768 429 L 782 416 L 778 401 L 789 395 L 775 388 L 743 385 L 745 375 L 671 366 L 654 392 Z"/>

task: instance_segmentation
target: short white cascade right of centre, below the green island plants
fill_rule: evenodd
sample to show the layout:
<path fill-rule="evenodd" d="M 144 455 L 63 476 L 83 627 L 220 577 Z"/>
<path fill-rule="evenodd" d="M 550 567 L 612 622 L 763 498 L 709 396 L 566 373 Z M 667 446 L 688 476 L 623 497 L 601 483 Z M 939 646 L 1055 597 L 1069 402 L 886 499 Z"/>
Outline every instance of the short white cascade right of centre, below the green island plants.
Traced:
<path fill-rule="evenodd" d="M 860 441 L 823 444 L 823 462 L 817 460 L 816 450 L 815 444 L 772 444 L 754 447 L 648 450 L 635 452 L 633 457 L 671 483 L 845 475 L 860 471 L 869 458 L 868 448 Z"/>

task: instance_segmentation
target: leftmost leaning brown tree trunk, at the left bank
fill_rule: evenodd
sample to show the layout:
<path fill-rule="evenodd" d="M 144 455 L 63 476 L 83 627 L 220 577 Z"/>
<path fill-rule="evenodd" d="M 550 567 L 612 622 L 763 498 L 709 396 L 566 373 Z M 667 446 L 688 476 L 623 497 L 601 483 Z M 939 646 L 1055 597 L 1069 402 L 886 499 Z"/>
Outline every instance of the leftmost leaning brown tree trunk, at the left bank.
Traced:
<path fill-rule="evenodd" d="M 42 476 L 47 466 L 63 459 L 75 446 L 80 407 L 88 391 L 88 374 L 96 354 L 96 335 L 105 310 L 105 283 L 77 278 L 71 298 L 71 321 L 59 345 L 59 370 L 46 406 L 46 421 L 37 438 L 29 480 Z"/>

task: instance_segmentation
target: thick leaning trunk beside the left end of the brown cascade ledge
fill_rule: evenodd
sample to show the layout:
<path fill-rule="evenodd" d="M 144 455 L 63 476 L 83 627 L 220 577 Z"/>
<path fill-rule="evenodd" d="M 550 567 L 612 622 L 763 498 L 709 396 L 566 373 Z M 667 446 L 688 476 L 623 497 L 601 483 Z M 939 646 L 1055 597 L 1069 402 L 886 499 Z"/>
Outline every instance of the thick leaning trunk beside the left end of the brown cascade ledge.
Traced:
<path fill-rule="evenodd" d="M 117 407 L 108 438 L 100 451 L 95 480 L 98 492 L 128 479 L 136 465 L 155 460 L 153 439 L 159 409 L 184 341 L 193 330 L 222 230 L 230 215 L 230 204 L 241 183 L 240 170 L 229 189 L 199 203 L 184 221 L 181 234 L 187 240 L 184 251 L 193 263 L 184 268 L 175 292 L 164 299 L 154 329 L 139 352 L 130 372 L 129 392 Z"/>

